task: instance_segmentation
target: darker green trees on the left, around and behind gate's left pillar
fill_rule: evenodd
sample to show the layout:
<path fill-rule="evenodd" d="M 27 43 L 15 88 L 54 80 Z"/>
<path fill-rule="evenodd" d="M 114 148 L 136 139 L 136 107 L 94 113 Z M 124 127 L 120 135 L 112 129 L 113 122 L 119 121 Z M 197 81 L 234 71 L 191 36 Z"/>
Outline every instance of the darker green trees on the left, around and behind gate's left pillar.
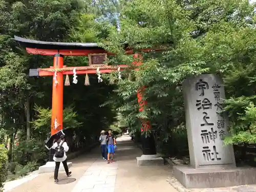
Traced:
<path fill-rule="evenodd" d="M 50 133 L 52 77 L 33 78 L 28 72 L 52 66 L 53 60 L 52 57 L 28 55 L 13 36 L 45 41 L 96 41 L 101 32 L 94 27 L 96 15 L 84 12 L 87 6 L 80 0 L 0 0 L 0 141 L 8 143 L 14 178 L 26 175 L 47 160 L 43 145 Z M 87 66 L 88 58 L 67 57 L 65 65 Z M 98 112 L 99 104 L 108 99 L 110 88 L 102 88 L 94 76 L 90 76 L 94 88 L 85 87 L 84 79 L 78 79 L 78 84 L 64 90 L 63 124 L 70 139 L 70 151 L 82 147 L 77 143 L 84 142 L 85 138 L 86 142 L 92 142 L 88 138 L 98 135 L 102 126 L 111 124 L 115 117 L 108 107 Z M 28 114 L 30 118 L 27 119 Z M 18 145 L 15 145 L 15 137 Z"/>

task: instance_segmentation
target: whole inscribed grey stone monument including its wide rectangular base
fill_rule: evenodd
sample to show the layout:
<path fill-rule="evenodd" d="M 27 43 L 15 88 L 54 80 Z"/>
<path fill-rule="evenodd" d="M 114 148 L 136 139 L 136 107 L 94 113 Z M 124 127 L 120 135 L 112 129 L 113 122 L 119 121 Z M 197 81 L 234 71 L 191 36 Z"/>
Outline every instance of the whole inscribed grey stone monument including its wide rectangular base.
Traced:
<path fill-rule="evenodd" d="M 221 113 L 225 99 L 221 78 L 214 74 L 190 77 L 182 89 L 190 166 L 174 166 L 175 178 L 186 188 L 256 183 L 250 175 L 255 169 L 236 168 L 232 145 L 223 144 L 228 119 Z"/>

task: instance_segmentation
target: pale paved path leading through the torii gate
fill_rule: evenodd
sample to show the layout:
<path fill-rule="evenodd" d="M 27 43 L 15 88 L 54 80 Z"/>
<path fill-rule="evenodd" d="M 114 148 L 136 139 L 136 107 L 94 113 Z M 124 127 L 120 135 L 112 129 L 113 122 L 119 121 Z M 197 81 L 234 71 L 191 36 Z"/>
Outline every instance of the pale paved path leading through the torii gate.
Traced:
<path fill-rule="evenodd" d="M 137 166 L 136 157 L 141 150 L 129 136 L 117 139 L 116 162 L 106 164 L 100 157 L 100 148 L 90 154 L 73 159 L 72 177 L 66 179 L 65 172 L 59 173 L 60 184 L 53 181 L 53 173 L 40 174 L 10 192 L 176 192 L 166 179 L 172 169 L 163 166 Z M 63 179 L 63 180 L 62 180 Z M 76 181 L 74 181 L 76 179 Z M 68 183 L 70 181 L 74 181 Z M 67 183 L 67 184 L 64 184 Z M 9 192 L 8 191 L 8 192 Z"/>

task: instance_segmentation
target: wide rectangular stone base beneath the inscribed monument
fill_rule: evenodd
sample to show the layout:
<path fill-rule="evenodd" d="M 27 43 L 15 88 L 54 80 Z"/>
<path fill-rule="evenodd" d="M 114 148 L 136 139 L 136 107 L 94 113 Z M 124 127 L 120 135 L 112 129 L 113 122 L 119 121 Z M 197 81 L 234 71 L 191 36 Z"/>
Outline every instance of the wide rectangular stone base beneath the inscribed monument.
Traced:
<path fill-rule="evenodd" d="M 186 188 L 230 187 L 256 183 L 256 168 L 194 169 L 174 165 L 174 177 Z"/>

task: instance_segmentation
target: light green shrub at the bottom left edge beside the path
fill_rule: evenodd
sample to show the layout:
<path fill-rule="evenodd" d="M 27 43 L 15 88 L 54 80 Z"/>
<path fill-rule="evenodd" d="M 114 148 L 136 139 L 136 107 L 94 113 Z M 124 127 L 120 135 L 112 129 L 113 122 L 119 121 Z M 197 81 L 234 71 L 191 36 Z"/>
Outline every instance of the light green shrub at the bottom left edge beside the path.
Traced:
<path fill-rule="evenodd" d="M 7 179 L 8 169 L 7 169 L 7 150 L 3 144 L 0 145 L 0 191 L 3 191 L 4 183 Z"/>

